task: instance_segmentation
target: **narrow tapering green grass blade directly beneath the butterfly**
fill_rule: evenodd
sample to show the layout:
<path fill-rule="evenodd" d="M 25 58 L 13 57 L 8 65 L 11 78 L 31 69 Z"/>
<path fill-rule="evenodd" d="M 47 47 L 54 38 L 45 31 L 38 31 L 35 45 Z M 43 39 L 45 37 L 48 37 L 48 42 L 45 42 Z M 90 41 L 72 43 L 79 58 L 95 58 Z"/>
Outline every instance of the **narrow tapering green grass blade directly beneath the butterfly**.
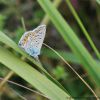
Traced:
<path fill-rule="evenodd" d="M 55 80 L 44 68 L 41 64 L 36 62 L 31 56 L 27 55 L 24 51 L 22 51 L 20 48 L 18 48 L 18 45 L 13 42 L 9 37 L 7 37 L 4 33 L 0 32 L 0 41 L 8 45 L 9 47 L 13 48 L 15 51 L 19 52 L 23 56 L 25 56 L 27 59 L 29 59 L 31 62 L 33 62 L 41 71 L 44 72 L 44 74 L 52 80 L 55 84 L 57 84 L 61 89 L 63 89 L 66 93 L 67 90 L 57 81 Z"/>

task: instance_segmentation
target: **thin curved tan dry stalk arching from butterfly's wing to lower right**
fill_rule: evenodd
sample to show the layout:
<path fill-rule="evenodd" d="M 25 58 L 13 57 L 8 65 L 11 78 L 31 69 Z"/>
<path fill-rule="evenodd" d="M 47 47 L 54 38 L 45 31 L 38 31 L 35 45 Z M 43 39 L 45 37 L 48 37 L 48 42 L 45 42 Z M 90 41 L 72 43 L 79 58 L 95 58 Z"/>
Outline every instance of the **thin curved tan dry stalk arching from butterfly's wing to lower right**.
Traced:
<path fill-rule="evenodd" d="M 48 46 L 47 44 L 43 43 L 44 46 L 46 46 L 47 48 L 49 48 L 50 50 L 52 50 L 55 54 L 57 54 L 62 60 L 63 62 L 68 65 L 68 67 L 79 77 L 79 79 L 88 87 L 88 89 L 93 93 L 93 95 L 95 96 L 95 98 L 97 100 L 99 100 L 98 96 L 96 95 L 96 93 L 94 92 L 94 90 L 90 87 L 90 85 L 76 72 L 76 70 L 53 48 L 51 48 L 50 46 Z"/>

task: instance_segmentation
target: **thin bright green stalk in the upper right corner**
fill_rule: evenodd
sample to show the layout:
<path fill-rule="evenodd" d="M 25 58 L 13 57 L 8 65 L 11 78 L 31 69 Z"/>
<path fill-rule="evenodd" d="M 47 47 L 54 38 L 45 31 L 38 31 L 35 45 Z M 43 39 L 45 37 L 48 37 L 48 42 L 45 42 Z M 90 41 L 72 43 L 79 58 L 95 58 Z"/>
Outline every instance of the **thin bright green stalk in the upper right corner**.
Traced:
<path fill-rule="evenodd" d="M 90 43 L 92 49 L 94 50 L 96 56 L 98 57 L 98 59 L 100 59 L 100 53 L 99 53 L 98 49 L 96 48 L 95 44 L 93 43 L 91 37 L 89 36 L 89 33 L 87 32 L 85 26 L 83 25 L 82 21 L 80 20 L 77 12 L 75 11 L 74 7 L 72 6 L 72 4 L 70 2 L 70 0 L 66 0 L 66 2 L 67 2 L 67 5 L 68 5 L 69 9 L 71 10 L 74 18 L 76 19 L 77 23 L 79 24 L 79 27 L 83 31 L 85 37 L 87 38 L 87 40 Z"/>

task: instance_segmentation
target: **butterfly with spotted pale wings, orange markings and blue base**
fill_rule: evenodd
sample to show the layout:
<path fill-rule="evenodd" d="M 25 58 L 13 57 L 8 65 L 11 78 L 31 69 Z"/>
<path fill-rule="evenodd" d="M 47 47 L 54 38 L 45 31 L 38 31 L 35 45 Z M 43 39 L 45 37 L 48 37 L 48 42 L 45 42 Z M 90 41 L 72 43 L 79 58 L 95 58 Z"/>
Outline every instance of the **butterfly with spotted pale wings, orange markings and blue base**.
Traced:
<path fill-rule="evenodd" d="M 18 46 L 30 56 L 40 55 L 41 47 L 46 34 L 46 25 L 40 25 L 32 31 L 25 32 L 19 40 Z"/>

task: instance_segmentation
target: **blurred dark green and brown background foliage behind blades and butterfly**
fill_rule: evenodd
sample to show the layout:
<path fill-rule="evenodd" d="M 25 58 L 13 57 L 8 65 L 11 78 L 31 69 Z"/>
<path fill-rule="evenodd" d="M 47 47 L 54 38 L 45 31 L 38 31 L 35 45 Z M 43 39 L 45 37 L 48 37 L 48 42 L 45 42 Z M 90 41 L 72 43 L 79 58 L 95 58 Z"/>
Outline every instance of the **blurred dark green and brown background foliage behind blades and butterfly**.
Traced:
<path fill-rule="evenodd" d="M 71 0 L 71 3 L 92 38 L 96 48 L 100 50 L 99 3 L 95 0 Z M 95 52 L 77 24 L 77 21 L 73 17 L 65 0 L 61 0 L 58 10 L 84 46 L 88 49 L 89 53 L 98 62 Z M 23 28 L 23 20 L 26 30 L 33 30 L 43 21 L 44 16 L 45 12 L 37 0 L 0 0 L 0 30 L 6 33 L 6 35 L 16 43 L 18 43 L 21 35 L 25 32 Z M 88 77 L 88 73 L 83 69 L 80 59 L 72 53 L 63 38 L 58 34 L 58 31 L 51 21 L 47 25 L 44 43 L 62 54 L 73 68 L 90 84 L 96 94 L 98 96 L 100 95 L 100 88 L 95 86 L 94 81 Z M 2 43 L 1 45 L 10 51 L 13 51 L 8 46 Z M 43 46 L 39 57 L 45 69 L 68 90 L 72 97 L 75 97 L 76 99 L 78 97 L 78 100 L 80 100 L 80 97 L 86 97 L 88 95 L 91 97 L 93 96 L 84 83 L 82 83 L 82 81 L 67 67 L 67 65 L 50 49 Z M 26 62 L 28 62 L 27 59 Z M 0 77 L 5 77 L 9 71 L 10 70 L 4 65 L 0 64 Z M 16 74 L 10 77 L 10 80 L 32 88 L 29 83 L 25 82 Z M 30 92 L 27 89 L 23 89 L 10 83 L 6 83 L 2 89 L 0 89 L 0 100 L 22 100 L 18 93 L 28 100 L 47 100 L 37 93 Z"/>

